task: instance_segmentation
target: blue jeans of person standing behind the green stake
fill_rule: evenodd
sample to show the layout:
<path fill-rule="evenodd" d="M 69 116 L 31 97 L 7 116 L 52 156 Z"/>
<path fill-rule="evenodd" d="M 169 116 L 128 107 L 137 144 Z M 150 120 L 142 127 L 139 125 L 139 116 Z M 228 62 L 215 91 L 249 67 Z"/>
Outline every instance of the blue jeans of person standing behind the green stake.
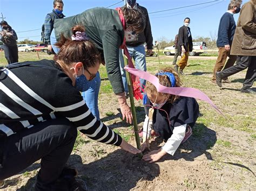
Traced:
<path fill-rule="evenodd" d="M 145 52 L 145 47 L 143 45 L 136 46 L 136 47 L 131 47 L 127 46 L 127 49 L 129 51 L 129 54 L 131 58 L 134 59 L 135 62 L 135 68 L 146 71 L 146 52 Z M 123 51 L 122 49 L 119 50 L 119 59 L 120 59 L 120 70 L 122 74 L 122 80 L 124 84 L 124 89 L 126 92 L 128 92 L 128 86 L 127 86 L 127 81 L 126 81 L 126 73 L 124 69 L 124 57 L 123 57 Z M 146 85 L 146 80 L 144 79 L 139 79 L 140 84 L 142 84 L 142 88 L 144 89 Z"/>

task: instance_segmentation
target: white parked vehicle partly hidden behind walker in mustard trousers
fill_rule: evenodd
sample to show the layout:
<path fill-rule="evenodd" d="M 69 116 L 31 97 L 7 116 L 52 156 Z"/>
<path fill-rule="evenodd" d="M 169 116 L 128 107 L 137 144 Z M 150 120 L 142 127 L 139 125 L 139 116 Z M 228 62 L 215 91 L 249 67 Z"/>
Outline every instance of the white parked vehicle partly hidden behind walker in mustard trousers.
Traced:
<path fill-rule="evenodd" d="M 203 42 L 203 41 L 193 42 L 193 51 L 190 52 L 190 55 L 191 56 L 200 55 L 200 54 L 206 53 L 206 50 L 207 50 L 207 46 L 206 46 L 205 42 Z M 164 48 L 164 54 L 165 55 L 175 54 L 174 45 Z"/>

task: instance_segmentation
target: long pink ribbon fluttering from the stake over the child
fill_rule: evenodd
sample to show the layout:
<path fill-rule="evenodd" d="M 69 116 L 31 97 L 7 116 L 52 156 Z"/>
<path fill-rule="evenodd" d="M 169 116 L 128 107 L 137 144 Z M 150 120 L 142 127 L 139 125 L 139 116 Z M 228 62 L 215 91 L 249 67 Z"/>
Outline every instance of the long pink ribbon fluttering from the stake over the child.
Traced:
<path fill-rule="evenodd" d="M 159 83 L 157 76 L 154 76 L 150 73 L 144 72 L 143 70 L 139 70 L 136 68 L 125 67 L 124 69 L 126 69 L 127 72 L 140 77 L 141 79 L 151 82 L 157 88 L 158 92 L 172 94 L 172 95 L 178 95 L 178 96 L 184 96 L 184 97 L 193 97 L 193 98 L 197 98 L 199 100 L 203 100 L 203 101 L 209 103 L 210 105 L 212 105 L 212 107 L 215 110 L 217 110 L 221 115 L 223 115 L 223 113 L 214 105 L 214 103 L 210 100 L 210 98 L 205 93 L 200 91 L 199 89 L 186 88 L 186 87 L 166 87 Z"/>

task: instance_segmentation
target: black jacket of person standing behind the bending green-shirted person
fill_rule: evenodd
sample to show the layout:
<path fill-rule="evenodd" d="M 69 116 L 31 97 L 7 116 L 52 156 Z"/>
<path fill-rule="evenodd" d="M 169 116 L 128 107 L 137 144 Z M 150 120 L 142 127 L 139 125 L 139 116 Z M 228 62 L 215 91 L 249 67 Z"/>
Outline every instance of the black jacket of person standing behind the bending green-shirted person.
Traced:
<path fill-rule="evenodd" d="M 145 29 L 142 33 L 139 33 L 136 35 L 136 39 L 134 41 L 128 41 L 126 39 L 126 45 L 136 47 L 146 43 L 147 49 L 153 49 L 153 37 L 151 33 L 149 13 L 147 13 L 147 9 L 144 8 L 144 6 L 140 6 L 138 3 L 137 3 L 137 8 L 142 10 L 143 15 L 145 16 Z"/>

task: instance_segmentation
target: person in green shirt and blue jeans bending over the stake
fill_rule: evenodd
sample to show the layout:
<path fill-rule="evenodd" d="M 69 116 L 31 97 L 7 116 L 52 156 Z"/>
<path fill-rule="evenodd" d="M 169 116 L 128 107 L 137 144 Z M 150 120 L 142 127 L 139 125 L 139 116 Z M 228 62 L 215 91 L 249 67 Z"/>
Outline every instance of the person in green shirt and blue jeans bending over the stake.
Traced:
<path fill-rule="evenodd" d="M 123 22 L 125 22 L 124 26 Z M 121 8 L 121 10 L 93 8 L 75 16 L 57 19 L 51 35 L 51 45 L 54 45 L 56 41 L 60 41 L 61 34 L 64 37 L 70 37 L 70 26 L 77 24 L 85 27 L 87 37 L 100 52 L 113 92 L 117 96 L 123 119 L 126 118 L 127 123 L 132 123 L 131 109 L 126 102 L 119 67 L 119 47 L 124 43 L 125 30 L 132 30 L 138 33 L 143 31 L 144 18 L 142 13 L 138 10 L 127 8 Z M 52 48 L 56 51 L 54 46 Z M 92 113 L 99 118 L 97 116 L 100 86 L 99 74 L 90 85 L 82 95 Z"/>

